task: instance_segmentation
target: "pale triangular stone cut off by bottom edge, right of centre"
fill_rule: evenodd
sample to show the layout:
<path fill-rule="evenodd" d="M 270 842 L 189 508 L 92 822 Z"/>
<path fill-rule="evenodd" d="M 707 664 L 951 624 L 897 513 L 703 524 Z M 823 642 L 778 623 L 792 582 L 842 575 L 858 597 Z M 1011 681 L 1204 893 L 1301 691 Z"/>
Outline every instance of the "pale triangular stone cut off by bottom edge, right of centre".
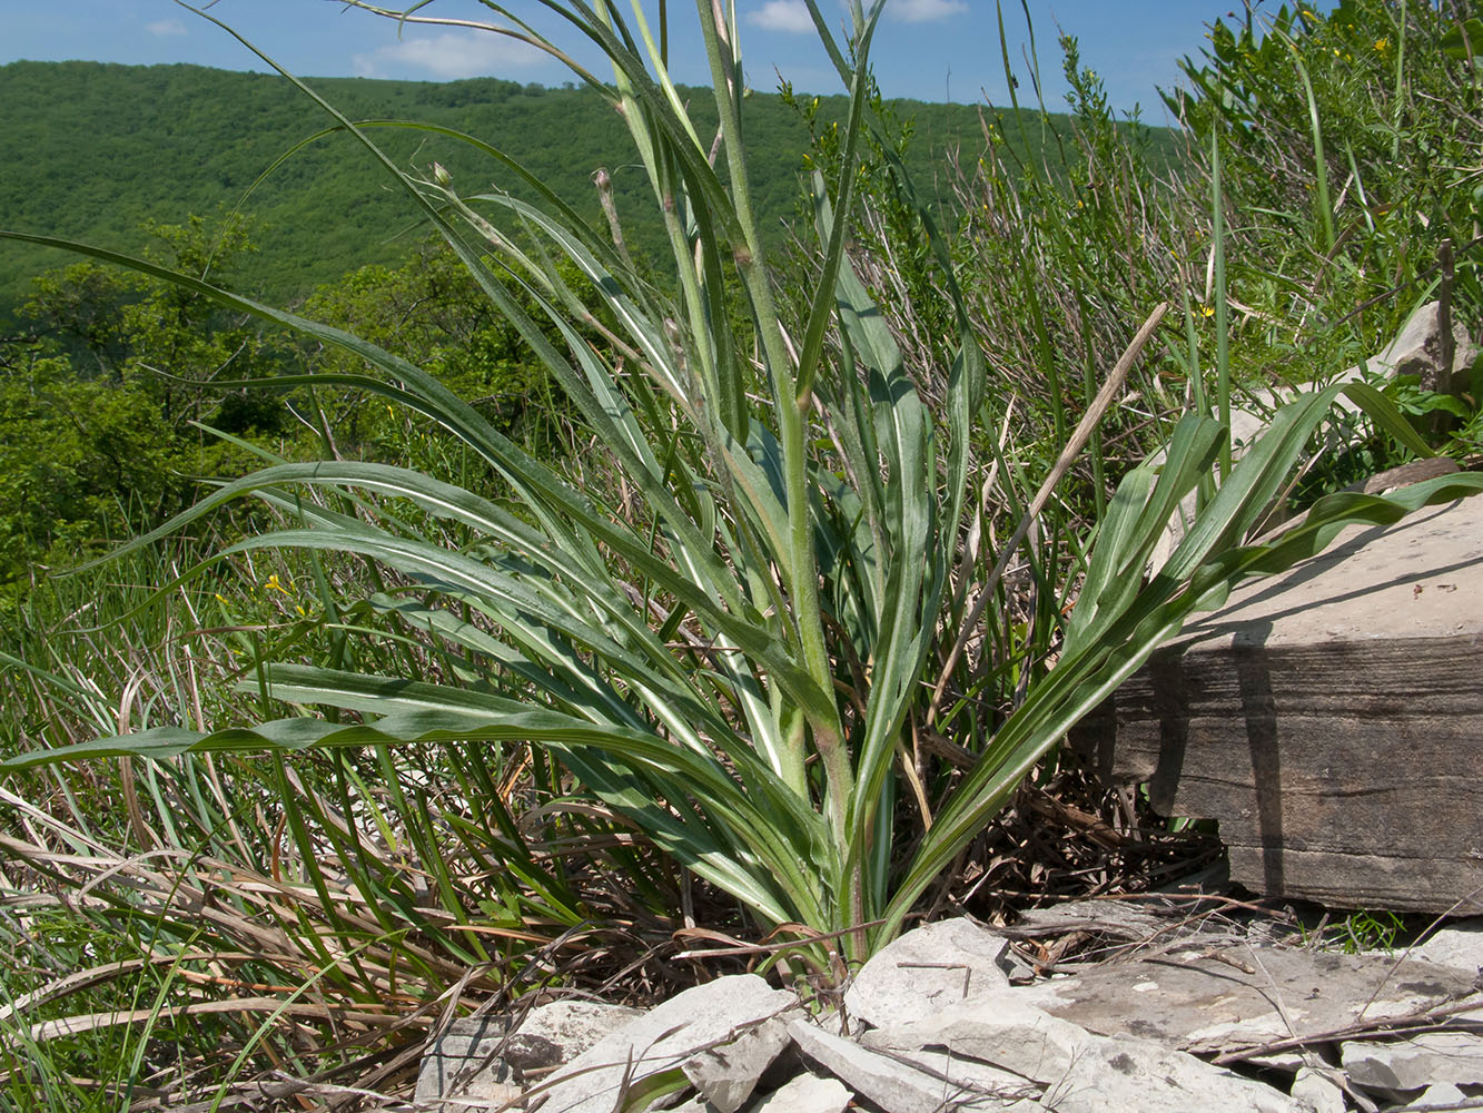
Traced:
<path fill-rule="evenodd" d="M 1056 1113 L 1308 1113 L 1261 1082 L 1126 1037 L 1093 1037 L 1041 1103 Z"/>

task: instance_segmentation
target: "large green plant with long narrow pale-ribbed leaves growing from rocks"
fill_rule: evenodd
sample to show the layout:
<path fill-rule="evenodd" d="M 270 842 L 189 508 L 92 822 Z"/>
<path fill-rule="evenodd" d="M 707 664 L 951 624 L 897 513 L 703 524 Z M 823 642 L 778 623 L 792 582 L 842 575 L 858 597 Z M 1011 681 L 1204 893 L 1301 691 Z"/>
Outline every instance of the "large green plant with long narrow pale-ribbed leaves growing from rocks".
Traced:
<path fill-rule="evenodd" d="M 927 822 L 903 837 L 899 797 L 916 776 L 909 738 L 933 706 L 939 654 L 964 640 L 945 622 L 945 604 L 968 530 L 973 418 L 986 375 L 962 300 L 949 291 L 958 306 L 957 353 L 942 413 L 928 411 L 848 263 L 851 169 L 869 126 L 866 59 L 882 4 L 866 10 L 854 0 L 851 37 L 841 46 L 820 7 L 807 3 L 851 99 L 838 190 L 829 196 L 822 181 L 814 184 L 823 279 L 796 338 L 774 306 L 750 205 L 740 27 L 724 4 L 697 3 L 721 120 L 710 142 L 670 80 L 666 4 L 658 4 L 655 34 L 641 3 L 624 16 L 602 0 L 541 0 L 614 67 L 611 85 L 580 65 L 574 71 L 611 99 L 633 137 L 673 248 L 675 297 L 657 292 L 550 191 L 532 205 L 503 193 L 460 196 L 439 172 L 417 180 L 366 129 L 320 101 L 406 188 L 521 331 L 601 438 L 623 479 L 621 502 L 577 490 L 436 378 L 349 334 L 101 248 L 6 233 L 169 279 L 346 349 L 374 372 L 332 381 L 421 413 L 497 476 L 491 494 L 386 464 L 276 464 L 138 542 L 227 500 L 264 499 L 300 525 L 249 536 L 227 554 L 341 552 L 390 570 L 387 588 L 365 603 L 397 629 L 437 643 L 454 662 L 442 680 L 268 665 L 274 697 L 354 714 L 214 732 L 156 727 L 19 754 L 9 764 L 531 743 L 556 754 L 583 791 L 676 862 L 737 898 L 759 926 L 786 929 L 799 962 L 839 976 L 839 959 L 857 962 L 896 935 L 1034 764 L 1192 610 L 1244 574 L 1317 551 L 1344 522 L 1391 521 L 1483 487 L 1483 478 L 1461 475 L 1390 499 L 1333 497 L 1278 542 L 1243 546 L 1335 398 L 1332 390 L 1314 395 L 1278 414 L 1173 558 L 1142 585 L 1163 524 L 1210 473 L 1223 441 L 1218 423 L 1186 418 L 1163 467 L 1136 469 L 1111 500 L 1056 668 L 948 795 L 927 801 L 921 784 L 912 785 Z M 383 13 L 417 21 L 427 18 L 417 15 L 424 6 Z M 507 21 L 494 33 L 569 56 L 509 7 L 486 7 Z M 578 331 L 561 266 L 575 266 L 607 300 L 617 329 L 605 346 Z M 494 278 L 497 269 L 541 307 L 565 350 Z M 952 275 L 951 266 L 943 270 Z M 737 292 L 753 350 L 730 326 Z M 1136 355 L 1134 346 L 1123 372 Z M 1378 396 L 1351 392 L 1382 413 Z M 1089 414 L 1043 491 L 1096 418 Z M 1404 432 L 1398 420 L 1396 429 Z M 408 505 L 464 542 L 427 540 L 409 527 Z M 1016 531 L 1011 546 L 1023 536 Z M 1000 555 L 1001 570 L 1007 558 Z"/>

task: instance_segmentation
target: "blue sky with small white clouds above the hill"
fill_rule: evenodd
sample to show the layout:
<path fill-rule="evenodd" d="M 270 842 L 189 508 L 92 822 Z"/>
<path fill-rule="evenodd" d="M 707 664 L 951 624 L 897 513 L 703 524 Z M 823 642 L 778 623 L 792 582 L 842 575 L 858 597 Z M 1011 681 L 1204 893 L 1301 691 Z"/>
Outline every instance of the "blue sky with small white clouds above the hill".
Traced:
<path fill-rule="evenodd" d="M 384 0 L 396 6 L 396 0 Z M 808 92 L 835 92 L 836 83 L 814 40 L 801 0 L 736 0 L 743 24 L 747 80 L 758 89 L 777 86 L 777 73 Z M 515 0 L 512 10 L 540 10 Z M 627 3 L 618 0 L 627 10 Z M 655 0 L 645 0 L 648 12 Z M 836 7 L 838 6 L 838 7 Z M 1320 4 L 1327 9 L 1332 4 Z M 1028 0 L 1041 56 L 1047 101 L 1059 107 L 1057 28 L 1081 42 L 1084 65 L 1106 82 L 1112 104 L 1126 111 L 1142 104 L 1145 119 L 1160 122 L 1155 88 L 1179 80 L 1178 61 L 1198 55 L 1210 22 L 1240 10 L 1241 0 Z M 694 9 L 672 0 L 672 12 L 690 16 L 675 33 L 675 65 L 681 80 L 706 80 L 696 42 Z M 393 21 L 346 10 L 337 0 L 217 0 L 212 13 L 231 24 L 265 53 L 301 76 L 368 76 L 448 80 L 498 76 L 559 85 L 567 74 L 544 55 L 509 39 L 455 27 L 408 27 L 397 36 Z M 826 0 L 826 10 L 841 10 Z M 888 96 L 1007 102 L 995 4 L 986 0 L 888 0 L 873 62 Z M 1261 9 L 1259 9 L 1261 10 Z M 486 19 L 472 0 L 437 0 L 418 15 Z M 1011 53 L 1028 92 L 1025 15 L 1019 0 L 1005 0 Z M 562 39 L 568 43 L 569 36 Z M 0 0 L 0 62 L 18 58 L 110 62 L 197 62 L 233 70 L 261 70 L 240 43 L 171 0 Z"/>

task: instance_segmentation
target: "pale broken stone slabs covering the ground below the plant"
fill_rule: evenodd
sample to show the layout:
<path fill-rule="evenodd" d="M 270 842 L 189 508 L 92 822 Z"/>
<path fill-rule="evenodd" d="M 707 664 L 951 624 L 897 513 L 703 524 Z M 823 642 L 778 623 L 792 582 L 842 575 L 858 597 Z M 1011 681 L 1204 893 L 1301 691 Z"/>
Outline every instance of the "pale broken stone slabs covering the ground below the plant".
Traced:
<path fill-rule="evenodd" d="M 1100 944 L 1065 962 L 1068 942 Z M 902 936 L 835 1003 L 756 975 L 655 1009 L 454 1022 L 426 1109 L 1342 1113 L 1483 1109 L 1483 920 L 1339 954 L 1229 901 L 1087 901 Z"/>

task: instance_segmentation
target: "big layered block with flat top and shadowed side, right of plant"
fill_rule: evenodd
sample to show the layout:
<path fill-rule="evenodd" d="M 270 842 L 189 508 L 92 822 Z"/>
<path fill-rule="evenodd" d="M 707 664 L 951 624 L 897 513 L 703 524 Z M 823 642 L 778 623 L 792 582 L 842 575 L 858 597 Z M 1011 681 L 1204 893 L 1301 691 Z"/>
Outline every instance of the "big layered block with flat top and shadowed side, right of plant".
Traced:
<path fill-rule="evenodd" d="M 1483 825 L 1458 819 L 1483 815 L 1480 646 L 1483 499 L 1465 499 L 1352 527 L 1237 589 L 1077 745 L 1112 782 L 1148 782 L 1160 812 L 1219 819 L 1249 889 L 1468 911 Z"/>

